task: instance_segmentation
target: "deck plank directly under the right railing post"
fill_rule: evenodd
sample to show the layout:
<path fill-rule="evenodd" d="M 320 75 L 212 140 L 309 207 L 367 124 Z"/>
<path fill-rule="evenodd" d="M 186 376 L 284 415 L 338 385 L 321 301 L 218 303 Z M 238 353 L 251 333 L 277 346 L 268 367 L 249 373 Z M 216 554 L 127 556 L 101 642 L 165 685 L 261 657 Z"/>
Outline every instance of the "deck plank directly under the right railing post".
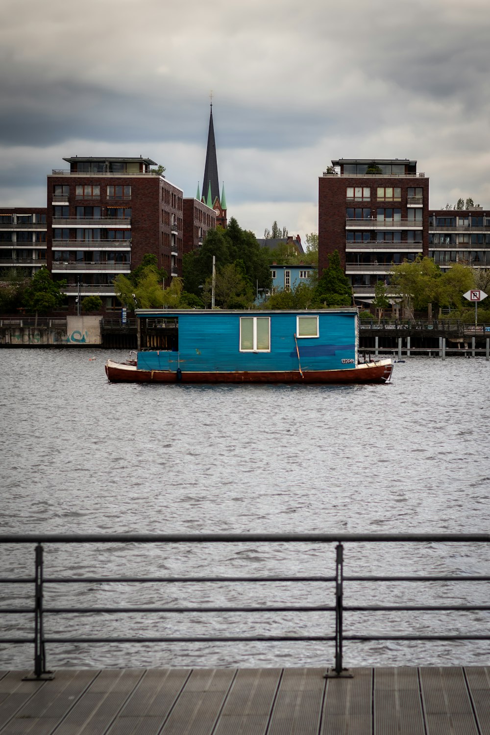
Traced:
<path fill-rule="evenodd" d="M 321 735 L 372 735 L 372 669 L 327 680 Z"/>

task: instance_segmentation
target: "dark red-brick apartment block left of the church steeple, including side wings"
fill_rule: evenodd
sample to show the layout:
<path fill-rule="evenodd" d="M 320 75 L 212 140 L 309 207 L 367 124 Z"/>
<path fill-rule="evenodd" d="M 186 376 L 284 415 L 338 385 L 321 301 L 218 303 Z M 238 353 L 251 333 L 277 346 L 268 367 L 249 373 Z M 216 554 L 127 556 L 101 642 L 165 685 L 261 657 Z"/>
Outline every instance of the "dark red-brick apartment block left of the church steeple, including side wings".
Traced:
<path fill-rule="evenodd" d="M 215 210 L 195 199 L 184 204 L 182 190 L 152 172 L 149 158 L 63 160 L 70 168 L 47 177 L 47 207 L 0 209 L 0 269 L 32 276 L 47 265 L 67 282 L 69 312 L 87 295 L 99 295 L 104 311 L 120 309 L 113 280 L 146 253 L 156 255 L 169 284 L 181 276 L 184 251 L 216 226 Z"/>

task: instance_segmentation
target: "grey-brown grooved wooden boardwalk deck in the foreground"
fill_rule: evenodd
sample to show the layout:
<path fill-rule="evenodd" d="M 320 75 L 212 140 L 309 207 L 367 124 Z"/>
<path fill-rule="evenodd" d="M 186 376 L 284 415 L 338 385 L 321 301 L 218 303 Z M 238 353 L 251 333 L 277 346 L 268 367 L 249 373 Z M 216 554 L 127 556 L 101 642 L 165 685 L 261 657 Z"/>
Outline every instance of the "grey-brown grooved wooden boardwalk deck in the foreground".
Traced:
<path fill-rule="evenodd" d="M 1 735 L 486 735 L 490 667 L 0 672 Z"/>

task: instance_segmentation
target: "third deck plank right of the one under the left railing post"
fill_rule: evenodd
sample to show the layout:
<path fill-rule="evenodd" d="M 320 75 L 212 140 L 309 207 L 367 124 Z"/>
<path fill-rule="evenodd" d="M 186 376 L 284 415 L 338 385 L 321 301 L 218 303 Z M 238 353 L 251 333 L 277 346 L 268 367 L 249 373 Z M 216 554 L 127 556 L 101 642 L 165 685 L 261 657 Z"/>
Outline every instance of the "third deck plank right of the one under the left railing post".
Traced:
<path fill-rule="evenodd" d="M 116 717 L 110 735 L 156 735 L 189 678 L 190 669 L 151 669 Z"/>

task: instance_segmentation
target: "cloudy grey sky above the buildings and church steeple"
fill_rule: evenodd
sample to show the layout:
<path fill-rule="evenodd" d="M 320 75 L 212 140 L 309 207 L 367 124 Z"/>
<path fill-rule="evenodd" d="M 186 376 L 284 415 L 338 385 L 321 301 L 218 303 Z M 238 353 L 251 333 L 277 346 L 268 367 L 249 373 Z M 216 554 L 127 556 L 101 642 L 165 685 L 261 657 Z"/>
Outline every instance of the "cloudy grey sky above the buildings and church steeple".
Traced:
<path fill-rule="evenodd" d="M 417 159 L 430 206 L 490 209 L 489 0 L 0 0 L 0 206 L 65 156 L 202 187 L 209 90 L 228 217 L 317 230 L 332 158 Z"/>

